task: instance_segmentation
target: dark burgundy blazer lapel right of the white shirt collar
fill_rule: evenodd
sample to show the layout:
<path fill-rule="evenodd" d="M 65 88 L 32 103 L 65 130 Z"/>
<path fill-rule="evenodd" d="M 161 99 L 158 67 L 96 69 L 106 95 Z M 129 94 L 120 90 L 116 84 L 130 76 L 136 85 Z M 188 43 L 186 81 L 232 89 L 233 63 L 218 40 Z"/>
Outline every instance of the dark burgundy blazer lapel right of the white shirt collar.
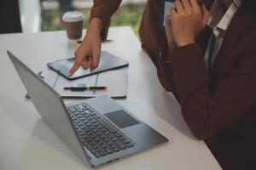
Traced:
<path fill-rule="evenodd" d="M 218 51 L 218 55 L 214 61 L 212 76 L 216 77 L 218 72 L 221 70 L 224 61 L 228 58 L 230 51 L 235 47 L 236 42 L 241 38 L 241 36 L 246 33 L 247 27 L 250 24 L 252 14 L 248 14 L 246 8 L 241 6 L 234 15 L 234 18 L 230 22 L 225 36 L 224 42 Z"/>

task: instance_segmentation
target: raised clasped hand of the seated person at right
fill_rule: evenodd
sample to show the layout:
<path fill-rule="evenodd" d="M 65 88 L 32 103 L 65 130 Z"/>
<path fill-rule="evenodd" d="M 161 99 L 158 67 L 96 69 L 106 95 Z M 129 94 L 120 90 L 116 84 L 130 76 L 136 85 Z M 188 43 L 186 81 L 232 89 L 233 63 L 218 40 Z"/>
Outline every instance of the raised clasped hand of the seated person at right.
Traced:
<path fill-rule="evenodd" d="M 209 11 L 197 0 L 175 1 L 171 8 L 172 35 L 178 47 L 195 42 L 195 37 L 207 26 Z"/>

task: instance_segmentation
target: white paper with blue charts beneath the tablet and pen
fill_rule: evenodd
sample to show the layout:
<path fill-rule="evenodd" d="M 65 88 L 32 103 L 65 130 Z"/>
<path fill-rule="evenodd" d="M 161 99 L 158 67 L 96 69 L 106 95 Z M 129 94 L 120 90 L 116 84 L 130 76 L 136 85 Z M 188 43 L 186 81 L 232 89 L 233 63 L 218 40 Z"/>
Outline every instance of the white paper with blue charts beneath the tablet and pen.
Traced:
<path fill-rule="evenodd" d="M 105 71 L 89 77 L 82 77 L 69 81 L 55 71 L 43 71 L 44 82 L 61 95 L 63 98 L 72 97 L 96 97 L 99 95 L 108 95 L 113 98 L 124 98 L 127 95 L 128 67 L 113 71 Z M 64 87 L 96 87 L 104 86 L 107 90 L 81 91 L 74 92 L 64 90 Z"/>

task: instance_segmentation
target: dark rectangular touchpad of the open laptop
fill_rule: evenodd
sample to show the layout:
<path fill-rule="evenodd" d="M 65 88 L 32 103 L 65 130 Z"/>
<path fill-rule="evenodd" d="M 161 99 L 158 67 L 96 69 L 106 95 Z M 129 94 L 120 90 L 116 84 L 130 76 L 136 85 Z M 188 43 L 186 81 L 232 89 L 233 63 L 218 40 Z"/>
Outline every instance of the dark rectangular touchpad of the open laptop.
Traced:
<path fill-rule="evenodd" d="M 107 116 L 108 119 L 112 121 L 119 128 L 130 127 L 140 123 L 140 122 L 137 122 L 136 119 L 134 119 L 124 110 L 113 111 L 113 112 L 104 114 L 104 116 Z"/>

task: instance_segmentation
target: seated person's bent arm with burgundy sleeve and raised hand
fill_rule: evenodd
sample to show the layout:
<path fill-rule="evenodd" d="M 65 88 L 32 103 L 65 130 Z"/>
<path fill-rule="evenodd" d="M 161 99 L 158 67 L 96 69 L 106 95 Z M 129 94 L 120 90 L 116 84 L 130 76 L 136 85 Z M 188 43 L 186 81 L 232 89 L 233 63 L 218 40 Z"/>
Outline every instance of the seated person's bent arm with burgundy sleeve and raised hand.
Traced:
<path fill-rule="evenodd" d="M 206 26 L 208 11 L 202 12 L 196 0 L 176 1 L 171 10 L 172 33 L 178 48 L 170 54 L 173 82 L 185 122 L 198 139 L 209 139 L 229 127 L 255 106 L 256 42 L 247 42 L 246 54 L 236 68 L 209 88 L 209 77 L 197 32 Z"/>

